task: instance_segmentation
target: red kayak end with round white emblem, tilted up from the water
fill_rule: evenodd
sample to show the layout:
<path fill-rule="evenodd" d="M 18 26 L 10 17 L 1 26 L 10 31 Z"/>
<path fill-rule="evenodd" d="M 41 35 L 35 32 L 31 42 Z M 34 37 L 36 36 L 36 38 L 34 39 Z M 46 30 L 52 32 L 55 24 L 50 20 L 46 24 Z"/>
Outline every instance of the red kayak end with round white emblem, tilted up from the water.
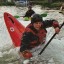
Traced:
<path fill-rule="evenodd" d="M 22 33 L 24 32 L 25 27 L 7 12 L 4 13 L 4 20 L 14 46 L 20 46 Z"/>

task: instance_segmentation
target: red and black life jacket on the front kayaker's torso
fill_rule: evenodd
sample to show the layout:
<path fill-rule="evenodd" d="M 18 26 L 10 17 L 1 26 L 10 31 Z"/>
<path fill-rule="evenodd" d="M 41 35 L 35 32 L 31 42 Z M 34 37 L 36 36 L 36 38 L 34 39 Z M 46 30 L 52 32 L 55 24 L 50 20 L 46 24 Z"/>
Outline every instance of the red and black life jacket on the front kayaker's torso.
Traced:
<path fill-rule="evenodd" d="M 31 35 L 31 42 L 29 47 L 35 47 L 38 46 L 41 43 L 45 43 L 45 39 L 46 39 L 46 29 L 41 27 L 41 29 L 39 31 L 37 31 L 32 24 L 28 25 L 28 27 L 26 28 L 25 32 L 30 32 L 32 33 Z"/>

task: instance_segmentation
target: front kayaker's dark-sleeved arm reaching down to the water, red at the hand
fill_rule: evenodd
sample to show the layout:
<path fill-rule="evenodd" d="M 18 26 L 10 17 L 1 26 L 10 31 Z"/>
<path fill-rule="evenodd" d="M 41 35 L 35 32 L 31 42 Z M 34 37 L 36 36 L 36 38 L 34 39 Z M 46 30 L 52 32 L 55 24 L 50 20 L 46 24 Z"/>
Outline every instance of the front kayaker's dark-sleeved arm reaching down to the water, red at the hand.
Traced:
<path fill-rule="evenodd" d="M 31 33 L 30 32 L 26 32 L 23 34 L 22 37 L 22 43 L 21 43 L 21 47 L 20 47 L 20 55 L 23 56 L 24 58 L 31 58 L 32 57 L 32 53 L 27 49 L 30 42 L 31 42 Z"/>

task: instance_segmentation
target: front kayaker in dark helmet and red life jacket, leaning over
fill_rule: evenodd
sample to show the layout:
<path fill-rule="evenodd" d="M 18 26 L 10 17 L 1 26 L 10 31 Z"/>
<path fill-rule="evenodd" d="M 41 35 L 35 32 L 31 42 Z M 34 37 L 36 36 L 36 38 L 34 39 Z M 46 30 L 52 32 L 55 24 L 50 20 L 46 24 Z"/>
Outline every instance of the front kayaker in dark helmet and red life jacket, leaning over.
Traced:
<path fill-rule="evenodd" d="M 46 28 L 53 27 L 56 33 L 59 33 L 59 23 L 56 20 L 45 20 L 39 14 L 31 17 L 31 23 L 26 27 L 21 38 L 20 55 L 25 59 L 32 57 L 30 50 L 44 44 L 46 41 Z"/>

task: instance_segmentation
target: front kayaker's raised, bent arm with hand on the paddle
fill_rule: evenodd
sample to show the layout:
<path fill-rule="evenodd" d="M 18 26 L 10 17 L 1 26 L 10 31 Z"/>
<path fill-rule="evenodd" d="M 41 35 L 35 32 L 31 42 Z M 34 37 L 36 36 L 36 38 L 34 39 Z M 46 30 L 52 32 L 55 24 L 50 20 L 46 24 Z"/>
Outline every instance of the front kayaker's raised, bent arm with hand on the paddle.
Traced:
<path fill-rule="evenodd" d="M 45 28 L 53 26 L 56 33 L 59 33 L 59 31 L 60 31 L 59 23 L 56 20 L 46 20 L 46 21 L 43 22 L 43 25 L 44 25 Z"/>

